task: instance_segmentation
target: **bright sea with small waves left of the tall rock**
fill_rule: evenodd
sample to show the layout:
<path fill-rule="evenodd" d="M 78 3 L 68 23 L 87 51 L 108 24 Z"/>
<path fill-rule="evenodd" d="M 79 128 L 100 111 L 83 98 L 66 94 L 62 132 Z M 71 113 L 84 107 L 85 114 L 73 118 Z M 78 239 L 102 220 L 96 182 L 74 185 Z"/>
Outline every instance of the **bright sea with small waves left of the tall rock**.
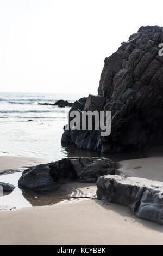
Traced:
<path fill-rule="evenodd" d="M 38 103 L 55 103 L 59 99 L 74 102 L 85 96 L 84 93 L 1 92 L 0 153 L 52 160 L 67 157 L 60 141 L 70 108 Z"/>

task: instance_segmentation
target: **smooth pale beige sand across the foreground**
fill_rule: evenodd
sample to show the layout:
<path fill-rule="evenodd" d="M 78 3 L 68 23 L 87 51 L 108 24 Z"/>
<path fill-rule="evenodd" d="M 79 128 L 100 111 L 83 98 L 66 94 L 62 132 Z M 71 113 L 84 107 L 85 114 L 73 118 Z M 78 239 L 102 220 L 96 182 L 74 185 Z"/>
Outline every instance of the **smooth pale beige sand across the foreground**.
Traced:
<path fill-rule="evenodd" d="M 1 245 L 161 245 L 163 227 L 98 200 L 1 212 Z"/>

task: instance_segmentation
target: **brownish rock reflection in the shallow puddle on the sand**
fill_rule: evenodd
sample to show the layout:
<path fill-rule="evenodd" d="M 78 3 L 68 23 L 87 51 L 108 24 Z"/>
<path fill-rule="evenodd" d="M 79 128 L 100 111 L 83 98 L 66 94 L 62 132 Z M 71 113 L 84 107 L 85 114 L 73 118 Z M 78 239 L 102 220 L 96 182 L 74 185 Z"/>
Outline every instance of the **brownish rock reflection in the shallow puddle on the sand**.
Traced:
<path fill-rule="evenodd" d="M 32 206 L 52 205 L 70 198 L 66 193 L 59 192 L 58 190 L 54 192 L 37 193 L 29 189 L 23 189 L 22 194 Z"/>

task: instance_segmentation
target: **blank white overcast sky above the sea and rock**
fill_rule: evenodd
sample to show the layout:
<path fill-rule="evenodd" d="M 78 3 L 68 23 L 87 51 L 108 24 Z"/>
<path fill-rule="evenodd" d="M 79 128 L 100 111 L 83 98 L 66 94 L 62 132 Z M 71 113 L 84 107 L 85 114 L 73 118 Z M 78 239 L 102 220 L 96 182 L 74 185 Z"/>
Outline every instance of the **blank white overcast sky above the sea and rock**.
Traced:
<path fill-rule="evenodd" d="M 97 94 L 105 57 L 139 27 L 163 26 L 162 5 L 0 0 L 0 91 Z"/>

